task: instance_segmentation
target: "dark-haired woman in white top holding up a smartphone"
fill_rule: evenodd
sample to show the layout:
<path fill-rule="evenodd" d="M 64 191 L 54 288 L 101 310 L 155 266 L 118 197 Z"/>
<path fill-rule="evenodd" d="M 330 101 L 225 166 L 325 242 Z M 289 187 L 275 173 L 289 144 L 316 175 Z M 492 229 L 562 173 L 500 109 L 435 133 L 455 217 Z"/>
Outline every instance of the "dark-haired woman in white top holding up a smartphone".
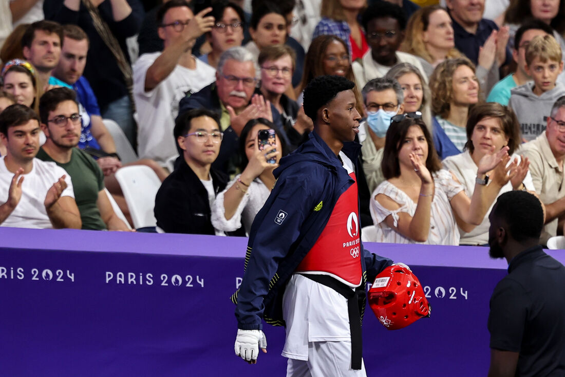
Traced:
<path fill-rule="evenodd" d="M 275 131 L 274 143 L 267 142 L 260 148 L 259 135 L 267 131 L 265 140 Z M 272 141 L 272 137 L 271 137 Z M 286 154 L 284 138 L 275 125 L 267 119 L 251 119 L 240 135 L 241 174 L 228 183 L 226 189 L 216 196 L 212 207 L 214 228 L 229 232 L 236 231 L 243 223 L 249 234 L 255 215 L 263 207 L 271 188 L 275 185 L 273 170 Z"/>

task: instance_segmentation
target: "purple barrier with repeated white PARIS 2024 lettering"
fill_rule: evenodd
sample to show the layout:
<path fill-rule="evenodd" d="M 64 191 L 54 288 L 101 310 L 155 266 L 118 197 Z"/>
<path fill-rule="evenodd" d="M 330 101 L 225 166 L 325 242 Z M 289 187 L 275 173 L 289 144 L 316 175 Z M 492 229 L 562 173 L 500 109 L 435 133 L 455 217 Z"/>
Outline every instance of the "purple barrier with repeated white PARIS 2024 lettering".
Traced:
<path fill-rule="evenodd" d="M 246 239 L 0 228 L 0 375 L 284 376 L 284 329 L 268 353 L 233 352 L 229 297 Z M 505 274 L 486 248 L 367 244 L 412 267 L 432 317 L 363 325 L 368 375 L 477 376 L 488 370 L 490 293 Z M 560 250 L 551 253 L 560 261 Z"/>

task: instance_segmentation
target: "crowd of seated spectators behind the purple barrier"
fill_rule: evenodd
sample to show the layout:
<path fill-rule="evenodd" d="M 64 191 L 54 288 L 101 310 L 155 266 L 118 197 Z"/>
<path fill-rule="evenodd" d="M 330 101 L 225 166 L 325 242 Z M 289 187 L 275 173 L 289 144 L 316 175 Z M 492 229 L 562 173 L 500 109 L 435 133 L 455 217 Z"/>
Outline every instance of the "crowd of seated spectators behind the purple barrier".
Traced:
<path fill-rule="evenodd" d="M 115 173 L 142 164 L 157 231 L 245 236 L 314 129 L 303 90 L 337 75 L 374 241 L 485 245 L 510 190 L 563 235 L 565 1 L 428 3 L 1 0 L 1 226 L 128 230 L 107 195 L 129 219 Z"/>

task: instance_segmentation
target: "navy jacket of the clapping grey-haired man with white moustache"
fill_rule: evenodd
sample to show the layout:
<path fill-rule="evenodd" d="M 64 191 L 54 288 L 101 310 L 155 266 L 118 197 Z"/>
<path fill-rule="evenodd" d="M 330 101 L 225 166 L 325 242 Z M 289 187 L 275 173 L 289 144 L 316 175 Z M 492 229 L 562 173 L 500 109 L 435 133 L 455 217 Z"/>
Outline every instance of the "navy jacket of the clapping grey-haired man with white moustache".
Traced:
<path fill-rule="evenodd" d="M 186 97 L 182 98 L 179 103 L 179 116 L 184 114 L 184 112 L 192 109 L 208 109 L 211 111 L 218 112 L 221 116 L 221 105 L 220 98 L 218 97 L 218 89 L 216 89 L 216 83 L 212 83 L 205 86 L 197 93 L 186 93 Z M 281 115 L 279 111 L 275 109 L 275 106 L 271 104 L 271 111 L 273 114 L 273 123 L 280 128 L 282 136 L 285 137 L 286 145 L 291 145 L 286 133 L 282 128 Z M 239 155 L 239 137 L 233 131 L 233 128 L 229 126 L 224 130 L 224 138 L 221 141 L 220 153 L 216 161 L 212 163 L 212 167 L 224 173 L 231 174 L 231 165 L 238 164 Z"/>

